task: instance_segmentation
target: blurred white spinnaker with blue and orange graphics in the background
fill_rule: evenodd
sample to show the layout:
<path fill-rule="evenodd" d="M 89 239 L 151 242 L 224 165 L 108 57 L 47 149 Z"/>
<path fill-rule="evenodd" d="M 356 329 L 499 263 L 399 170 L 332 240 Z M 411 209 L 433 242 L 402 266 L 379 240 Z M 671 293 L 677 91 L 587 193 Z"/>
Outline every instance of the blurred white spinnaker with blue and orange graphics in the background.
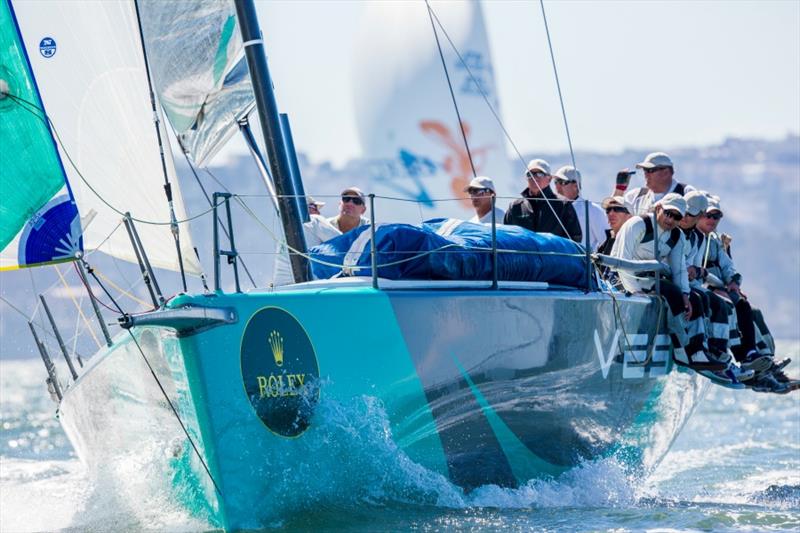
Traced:
<path fill-rule="evenodd" d="M 475 83 L 499 115 L 481 7 L 477 1 L 432 5 L 469 67 L 437 26 L 475 170 L 494 179 L 498 195 L 516 195 L 524 185 L 510 174 L 503 131 Z M 365 190 L 417 200 L 464 197 L 472 169 L 423 2 L 365 7 L 353 85 L 363 155 L 376 160 L 376 174 L 384 174 L 364 184 Z M 423 216 L 472 214 L 465 201 L 429 204 L 423 211 Z"/>

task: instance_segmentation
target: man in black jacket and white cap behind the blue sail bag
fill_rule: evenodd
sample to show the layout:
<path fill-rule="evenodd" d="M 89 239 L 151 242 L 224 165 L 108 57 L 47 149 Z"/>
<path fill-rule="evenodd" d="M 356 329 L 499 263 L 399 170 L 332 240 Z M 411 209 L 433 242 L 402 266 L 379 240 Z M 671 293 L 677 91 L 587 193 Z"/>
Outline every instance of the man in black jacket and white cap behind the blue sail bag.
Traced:
<path fill-rule="evenodd" d="M 532 159 L 525 178 L 528 186 L 522 191 L 522 198 L 509 204 L 503 223 L 581 242 L 583 233 L 575 209 L 550 189 L 553 177 L 547 161 Z"/>

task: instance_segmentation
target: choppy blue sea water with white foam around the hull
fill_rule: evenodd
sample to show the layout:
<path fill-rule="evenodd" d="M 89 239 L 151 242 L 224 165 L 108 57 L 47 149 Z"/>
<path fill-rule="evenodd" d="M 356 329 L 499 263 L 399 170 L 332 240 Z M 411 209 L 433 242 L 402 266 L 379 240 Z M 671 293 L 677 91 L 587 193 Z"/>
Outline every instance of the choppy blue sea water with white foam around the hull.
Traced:
<path fill-rule="evenodd" d="M 800 343 L 781 342 L 800 374 Z M 124 492 L 91 479 L 54 417 L 38 360 L 0 360 L 0 531 L 209 531 L 152 489 L 147 465 Z M 319 414 L 319 413 L 318 413 Z M 464 494 L 397 451 L 369 399 L 323 410 L 340 424 L 359 475 L 322 477 L 305 505 L 267 530 L 798 531 L 800 392 L 713 387 L 647 475 L 611 460 L 518 489 Z"/>

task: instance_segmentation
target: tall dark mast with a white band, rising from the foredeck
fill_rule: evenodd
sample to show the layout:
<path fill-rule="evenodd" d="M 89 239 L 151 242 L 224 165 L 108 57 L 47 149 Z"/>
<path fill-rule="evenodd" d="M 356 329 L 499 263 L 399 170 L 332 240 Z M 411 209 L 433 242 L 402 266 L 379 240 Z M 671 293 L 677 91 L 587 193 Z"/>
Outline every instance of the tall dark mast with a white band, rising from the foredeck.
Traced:
<path fill-rule="evenodd" d="M 250 80 L 253 83 L 258 117 L 275 182 L 275 191 L 278 194 L 281 223 L 286 235 L 286 242 L 290 248 L 305 254 L 308 251 L 306 238 L 295 197 L 297 193 L 292 182 L 286 145 L 283 141 L 278 105 L 275 102 L 275 93 L 272 90 L 272 81 L 267 68 L 264 41 L 261 38 L 261 29 L 256 18 L 256 7 L 253 0 L 234 0 L 234 4 L 236 5 L 236 16 L 239 19 L 239 28 L 242 31 L 247 66 L 250 69 Z M 295 282 L 308 281 L 310 274 L 306 257 L 290 252 L 289 259 Z"/>

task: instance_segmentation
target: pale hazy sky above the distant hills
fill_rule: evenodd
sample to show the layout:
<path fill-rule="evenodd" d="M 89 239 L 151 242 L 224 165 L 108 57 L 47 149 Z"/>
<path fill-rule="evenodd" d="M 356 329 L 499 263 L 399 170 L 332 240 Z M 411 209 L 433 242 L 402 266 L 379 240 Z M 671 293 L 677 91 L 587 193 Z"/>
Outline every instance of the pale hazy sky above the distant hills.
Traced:
<path fill-rule="evenodd" d="M 314 161 L 363 155 L 351 94 L 363 8 L 258 2 L 278 105 Z M 545 8 L 576 149 L 668 149 L 800 131 L 798 0 L 550 1 Z M 523 152 L 566 149 L 538 1 L 490 0 L 483 12 L 515 143 Z"/>

